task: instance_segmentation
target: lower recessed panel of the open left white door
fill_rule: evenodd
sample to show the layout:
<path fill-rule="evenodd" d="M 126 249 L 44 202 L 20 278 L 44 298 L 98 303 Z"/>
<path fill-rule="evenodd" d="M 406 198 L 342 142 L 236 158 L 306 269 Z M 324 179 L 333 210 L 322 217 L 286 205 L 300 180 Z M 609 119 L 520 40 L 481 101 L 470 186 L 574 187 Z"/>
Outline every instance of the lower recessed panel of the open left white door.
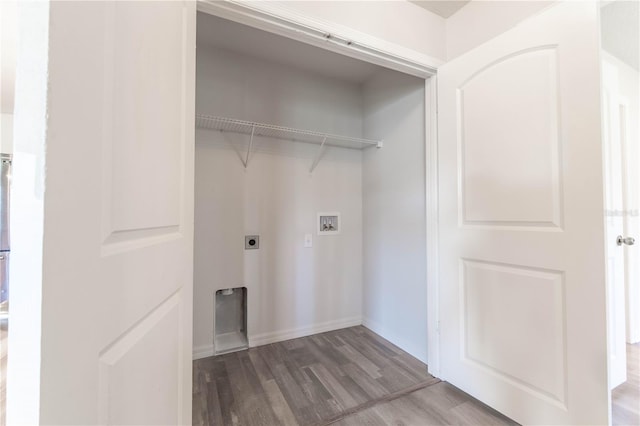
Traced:
<path fill-rule="evenodd" d="M 100 354 L 100 424 L 185 424 L 180 299 L 172 296 Z"/>

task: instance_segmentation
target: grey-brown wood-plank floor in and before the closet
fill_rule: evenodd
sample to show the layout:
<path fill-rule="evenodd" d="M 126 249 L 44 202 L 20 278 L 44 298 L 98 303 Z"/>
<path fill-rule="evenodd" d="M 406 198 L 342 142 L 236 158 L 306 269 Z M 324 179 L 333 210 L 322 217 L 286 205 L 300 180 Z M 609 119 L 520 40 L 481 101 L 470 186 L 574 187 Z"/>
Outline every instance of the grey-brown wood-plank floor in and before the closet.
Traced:
<path fill-rule="evenodd" d="M 194 425 L 515 424 L 364 327 L 194 361 Z"/>

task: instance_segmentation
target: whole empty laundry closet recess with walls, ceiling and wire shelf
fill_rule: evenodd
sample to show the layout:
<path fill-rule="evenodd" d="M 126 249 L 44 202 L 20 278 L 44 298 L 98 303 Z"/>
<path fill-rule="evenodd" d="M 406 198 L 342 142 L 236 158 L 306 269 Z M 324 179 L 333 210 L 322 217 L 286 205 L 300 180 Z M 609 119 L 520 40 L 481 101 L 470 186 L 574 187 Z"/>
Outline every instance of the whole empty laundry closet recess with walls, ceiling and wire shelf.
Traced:
<path fill-rule="evenodd" d="M 194 358 L 364 324 L 426 362 L 424 79 L 197 26 Z"/>

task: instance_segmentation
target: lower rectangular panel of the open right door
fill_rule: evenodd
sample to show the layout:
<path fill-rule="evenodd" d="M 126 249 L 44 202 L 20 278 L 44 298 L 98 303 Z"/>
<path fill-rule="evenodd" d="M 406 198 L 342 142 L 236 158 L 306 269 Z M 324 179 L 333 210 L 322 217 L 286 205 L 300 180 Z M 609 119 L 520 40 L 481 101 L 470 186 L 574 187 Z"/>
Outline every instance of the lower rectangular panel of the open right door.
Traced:
<path fill-rule="evenodd" d="M 562 273 L 485 261 L 461 263 L 464 361 L 565 403 Z M 522 363 L 539 368 L 524 369 Z"/>

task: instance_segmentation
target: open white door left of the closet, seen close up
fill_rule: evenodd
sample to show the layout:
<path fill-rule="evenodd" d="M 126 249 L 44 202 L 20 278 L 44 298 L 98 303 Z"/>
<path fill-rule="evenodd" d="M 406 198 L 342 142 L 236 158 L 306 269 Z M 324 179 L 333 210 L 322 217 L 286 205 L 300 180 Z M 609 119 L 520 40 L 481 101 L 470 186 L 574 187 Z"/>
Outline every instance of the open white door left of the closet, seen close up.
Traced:
<path fill-rule="evenodd" d="M 48 31 L 38 422 L 190 424 L 195 2 L 34 7 L 49 15 L 29 34 Z"/>

